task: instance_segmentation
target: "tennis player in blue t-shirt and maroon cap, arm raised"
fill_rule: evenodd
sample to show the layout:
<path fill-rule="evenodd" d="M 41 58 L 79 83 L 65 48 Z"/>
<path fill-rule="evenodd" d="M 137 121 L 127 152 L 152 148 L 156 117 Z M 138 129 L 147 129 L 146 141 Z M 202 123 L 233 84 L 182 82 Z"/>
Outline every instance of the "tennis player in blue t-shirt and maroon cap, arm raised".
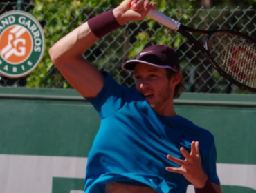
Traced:
<path fill-rule="evenodd" d="M 86 193 L 220 193 L 214 137 L 176 114 L 173 100 L 183 84 L 176 52 L 152 45 L 122 68 L 136 89 L 119 85 L 82 54 L 95 41 L 129 21 L 140 21 L 156 4 L 123 1 L 60 39 L 51 59 L 66 80 L 100 115 L 86 167 Z M 199 148 L 200 143 L 200 148 Z"/>

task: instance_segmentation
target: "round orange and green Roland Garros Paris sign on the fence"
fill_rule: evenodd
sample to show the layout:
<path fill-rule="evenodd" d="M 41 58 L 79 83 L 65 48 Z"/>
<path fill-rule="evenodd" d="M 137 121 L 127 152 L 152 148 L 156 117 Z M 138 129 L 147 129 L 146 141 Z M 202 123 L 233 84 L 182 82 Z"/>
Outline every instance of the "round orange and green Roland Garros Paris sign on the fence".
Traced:
<path fill-rule="evenodd" d="M 44 31 L 27 12 L 10 11 L 0 16 L 0 74 L 24 77 L 44 56 Z"/>

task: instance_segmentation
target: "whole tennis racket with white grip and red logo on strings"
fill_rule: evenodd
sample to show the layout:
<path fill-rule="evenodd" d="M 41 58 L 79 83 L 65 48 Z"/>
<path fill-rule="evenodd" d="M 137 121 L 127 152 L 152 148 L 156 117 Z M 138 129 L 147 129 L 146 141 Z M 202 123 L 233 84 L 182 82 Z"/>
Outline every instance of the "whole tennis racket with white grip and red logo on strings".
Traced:
<path fill-rule="evenodd" d="M 214 68 L 239 88 L 256 92 L 256 39 L 232 30 L 196 30 L 150 10 L 148 17 L 185 36 Z M 202 45 L 189 32 L 207 34 Z"/>

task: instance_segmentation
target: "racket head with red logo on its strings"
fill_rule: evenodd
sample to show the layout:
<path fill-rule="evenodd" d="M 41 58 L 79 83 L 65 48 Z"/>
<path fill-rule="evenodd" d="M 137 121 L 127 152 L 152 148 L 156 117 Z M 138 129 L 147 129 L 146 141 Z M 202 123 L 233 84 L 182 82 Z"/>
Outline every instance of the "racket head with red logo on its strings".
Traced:
<path fill-rule="evenodd" d="M 228 81 L 256 92 L 256 40 L 232 30 L 217 30 L 205 39 L 210 61 Z"/>

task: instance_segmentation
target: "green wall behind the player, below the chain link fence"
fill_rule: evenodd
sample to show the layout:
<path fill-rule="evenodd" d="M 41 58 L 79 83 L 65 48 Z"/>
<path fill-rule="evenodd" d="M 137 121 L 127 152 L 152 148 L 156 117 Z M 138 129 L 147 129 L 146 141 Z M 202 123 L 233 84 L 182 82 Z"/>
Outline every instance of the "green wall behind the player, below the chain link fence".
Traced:
<path fill-rule="evenodd" d="M 175 108 L 214 134 L 218 163 L 256 165 L 255 95 L 183 94 Z M 28 88 L 0 88 L 0 117 L 0 154 L 30 156 L 84 158 L 100 121 L 74 90 Z"/>

